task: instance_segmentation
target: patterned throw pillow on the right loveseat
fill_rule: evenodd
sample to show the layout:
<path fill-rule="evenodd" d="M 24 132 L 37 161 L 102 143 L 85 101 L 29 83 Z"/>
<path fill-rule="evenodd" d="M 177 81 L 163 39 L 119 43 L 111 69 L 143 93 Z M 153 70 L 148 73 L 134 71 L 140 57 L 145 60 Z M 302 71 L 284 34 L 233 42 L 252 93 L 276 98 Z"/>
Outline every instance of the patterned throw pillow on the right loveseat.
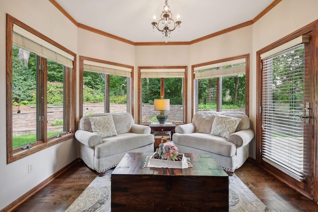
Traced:
<path fill-rule="evenodd" d="M 240 118 L 217 114 L 214 118 L 210 134 L 228 139 L 231 134 L 235 133 L 239 122 Z"/>

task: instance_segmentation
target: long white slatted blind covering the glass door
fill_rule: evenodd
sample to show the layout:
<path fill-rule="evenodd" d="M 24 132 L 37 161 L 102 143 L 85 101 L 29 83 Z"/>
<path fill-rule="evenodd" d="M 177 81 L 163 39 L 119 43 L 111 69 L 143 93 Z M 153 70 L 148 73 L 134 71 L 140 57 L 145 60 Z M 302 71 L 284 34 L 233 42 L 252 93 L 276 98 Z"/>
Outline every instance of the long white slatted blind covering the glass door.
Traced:
<path fill-rule="evenodd" d="M 262 159 L 304 180 L 304 44 L 262 60 Z"/>

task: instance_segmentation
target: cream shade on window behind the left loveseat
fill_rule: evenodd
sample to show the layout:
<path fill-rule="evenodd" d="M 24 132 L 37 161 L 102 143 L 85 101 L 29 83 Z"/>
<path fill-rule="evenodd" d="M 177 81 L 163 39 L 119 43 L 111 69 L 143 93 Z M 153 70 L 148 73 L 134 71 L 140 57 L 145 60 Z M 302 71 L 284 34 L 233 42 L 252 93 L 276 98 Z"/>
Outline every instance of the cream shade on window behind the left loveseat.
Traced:
<path fill-rule="evenodd" d="M 118 76 L 131 77 L 132 69 L 115 66 L 105 63 L 83 60 L 83 70 L 97 73 L 113 74 Z"/>

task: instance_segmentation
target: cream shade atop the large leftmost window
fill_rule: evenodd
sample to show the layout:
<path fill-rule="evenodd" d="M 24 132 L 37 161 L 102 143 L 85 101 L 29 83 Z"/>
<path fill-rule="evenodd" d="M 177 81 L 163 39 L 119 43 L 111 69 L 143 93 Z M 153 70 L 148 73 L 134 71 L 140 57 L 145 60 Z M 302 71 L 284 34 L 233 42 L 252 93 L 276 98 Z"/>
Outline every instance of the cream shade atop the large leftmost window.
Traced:
<path fill-rule="evenodd" d="M 73 69 L 74 56 L 13 24 L 13 45 Z"/>

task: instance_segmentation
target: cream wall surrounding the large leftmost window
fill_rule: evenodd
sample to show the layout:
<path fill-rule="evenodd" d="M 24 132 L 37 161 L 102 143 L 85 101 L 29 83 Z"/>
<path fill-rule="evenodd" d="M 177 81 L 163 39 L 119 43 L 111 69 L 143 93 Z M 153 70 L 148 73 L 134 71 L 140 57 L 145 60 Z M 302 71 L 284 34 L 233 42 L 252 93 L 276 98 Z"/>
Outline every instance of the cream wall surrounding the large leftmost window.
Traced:
<path fill-rule="evenodd" d="M 6 13 L 73 52 L 77 52 L 77 27 L 48 0 L 0 2 L 0 210 L 77 158 L 73 140 L 6 164 Z M 28 164 L 33 172 L 28 174 Z"/>

